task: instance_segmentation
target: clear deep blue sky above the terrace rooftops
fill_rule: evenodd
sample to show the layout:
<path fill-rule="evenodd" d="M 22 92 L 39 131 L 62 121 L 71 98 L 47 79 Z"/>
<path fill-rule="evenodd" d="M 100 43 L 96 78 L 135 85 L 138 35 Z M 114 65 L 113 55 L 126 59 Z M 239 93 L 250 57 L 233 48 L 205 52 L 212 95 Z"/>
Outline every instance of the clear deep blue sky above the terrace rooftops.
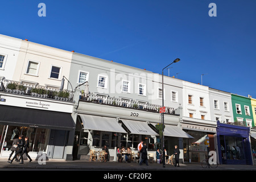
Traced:
<path fill-rule="evenodd" d="M 39 3 L 46 17 L 39 17 Z M 208 7 L 216 3 L 217 16 Z M 1 1 L 0 34 L 256 98 L 255 0 Z M 164 71 L 168 76 L 168 70 Z"/>

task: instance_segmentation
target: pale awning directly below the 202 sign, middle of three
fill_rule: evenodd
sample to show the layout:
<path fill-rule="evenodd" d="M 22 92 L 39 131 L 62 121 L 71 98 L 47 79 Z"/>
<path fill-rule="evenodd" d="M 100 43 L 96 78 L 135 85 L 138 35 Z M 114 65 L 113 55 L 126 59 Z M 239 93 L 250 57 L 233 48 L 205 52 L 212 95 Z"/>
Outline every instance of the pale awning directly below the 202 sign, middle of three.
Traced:
<path fill-rule="evenodd" d="M 139 135 L 158 135 L 154 130 L 148 126 L 147 122 L 143 121 L 134 121 L 128 119 L 121 119 L 123 124 L 131 131 L 131 134 Z"/>

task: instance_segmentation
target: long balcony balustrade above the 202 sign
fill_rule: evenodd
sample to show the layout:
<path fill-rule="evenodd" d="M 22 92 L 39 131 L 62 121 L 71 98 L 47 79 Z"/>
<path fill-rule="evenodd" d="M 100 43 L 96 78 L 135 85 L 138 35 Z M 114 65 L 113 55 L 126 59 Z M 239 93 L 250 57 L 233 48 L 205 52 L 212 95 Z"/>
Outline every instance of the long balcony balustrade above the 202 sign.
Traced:
<path fill-rule="evenodd" d="M 88 96 L 84 96 L 82 93 L 80 95 L 81 102 L 91 102 L 95 104 L 102 104 L 102 105 L 110 105 L 115 107 L 125 107 L 130 109 L 138 109 L 144 111 L 150 111 L 154 113 L 159 113 L 160 105 L 149 104 L 148 102 L 136 101 L 136 100 L 128 100 L 125 98 L 115 98 L 110 96 L 104 96 L 101 94 L 96 93 L 89 93 Z M 175 114 L 174 107 L 166 107 L 165 114 L 171 115 L 179 115 Z"/>

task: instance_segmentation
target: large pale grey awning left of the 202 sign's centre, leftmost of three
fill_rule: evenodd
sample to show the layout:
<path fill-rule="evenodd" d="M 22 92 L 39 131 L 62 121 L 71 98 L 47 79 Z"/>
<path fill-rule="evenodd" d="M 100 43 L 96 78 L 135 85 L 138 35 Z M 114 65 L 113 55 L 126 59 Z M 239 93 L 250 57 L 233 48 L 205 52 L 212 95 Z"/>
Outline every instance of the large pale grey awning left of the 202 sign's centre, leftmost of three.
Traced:
<path fill-rule="evenodd" d="M 97 115 L 79 114 L 84 129 L 111 131 L 117 133 L 127 133 L 116 118 L 101 117 Z"/>

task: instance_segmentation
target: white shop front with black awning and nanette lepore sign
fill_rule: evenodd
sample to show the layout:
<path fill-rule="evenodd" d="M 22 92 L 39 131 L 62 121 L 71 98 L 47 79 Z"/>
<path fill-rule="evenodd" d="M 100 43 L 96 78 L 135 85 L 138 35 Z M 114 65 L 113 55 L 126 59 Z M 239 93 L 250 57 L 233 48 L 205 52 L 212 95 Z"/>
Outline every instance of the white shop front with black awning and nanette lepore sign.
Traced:
<path fill-rule="evenodd" d="M 13 139 L 23 135 L 30 141 L 31 158 L 38 158 L 39 153 L 42 152 L 47 158 L 65 158 L 65 146 L 67 146 L 69 133 L 72 130 L 75 131 L 75 122 L 71 113 L 52 111 L 54 108 L 51 106 L 56 105 L 61 108 L 63 105 L 61 103 L 32 100 L 26 97 L 16 97 L 16 103 L 11 106 L 12 97 L 5 96 L 5 102 L 0 103 L 0 157 L 9 158 Z M 20 106 L 22 102 L 26 106 Z M 31 105 L 40 103 L 48 109 Z M 72 109 L 72 105 L 68 106 Z"/>

